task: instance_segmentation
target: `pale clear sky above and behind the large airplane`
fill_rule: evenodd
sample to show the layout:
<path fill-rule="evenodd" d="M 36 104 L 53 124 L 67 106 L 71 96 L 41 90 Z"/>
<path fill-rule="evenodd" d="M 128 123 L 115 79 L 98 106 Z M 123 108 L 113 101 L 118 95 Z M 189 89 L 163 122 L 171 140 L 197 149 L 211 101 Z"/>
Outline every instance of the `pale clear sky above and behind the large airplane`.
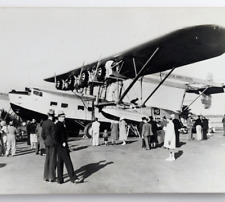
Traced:
<path fill-rule="evenodd" d="M 0 92 L 54 88 L 44 78 L 114 55 L 174 30 L 200 24 L 225 27 L 225 7 L 0 7 Z M 225 83 L 225 54 L 174 73 Z M 187 97 L 189 99 L 189 97 Z M 195 113 L 225 114 L 225 94 Z"/>

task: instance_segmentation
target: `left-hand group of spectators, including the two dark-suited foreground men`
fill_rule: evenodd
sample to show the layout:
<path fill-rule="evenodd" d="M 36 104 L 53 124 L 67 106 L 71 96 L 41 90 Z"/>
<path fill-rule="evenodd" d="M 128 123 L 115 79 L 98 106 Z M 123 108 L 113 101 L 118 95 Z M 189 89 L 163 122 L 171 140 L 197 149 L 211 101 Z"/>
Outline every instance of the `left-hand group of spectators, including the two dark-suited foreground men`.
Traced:
<path fill-rule="evenodd" d="M 64 183 L 63 167 L 64 164 L 68 171 L 70 181 L 74 184 L 83 182 L 83 177 L 78 177 L 73 168 L 70 158 L 70 150 L 67 142 L 67 131 L 65 126 L 65 113 L 59 111 L 57 116 L 54 110 L 48 112 L 48 119 L 36 123 L 35 119 L 27 122 L 27 144 L 36 154 L 46 156 L 44 164 L 45 182 Z M 1 121 L 1 154 L 12 156 L 16 154 L 16 135 L 18 129 L 13 121 L 7 126 L 5 121 Z M 56 178 L 57 172 L 57 178 Z"/>

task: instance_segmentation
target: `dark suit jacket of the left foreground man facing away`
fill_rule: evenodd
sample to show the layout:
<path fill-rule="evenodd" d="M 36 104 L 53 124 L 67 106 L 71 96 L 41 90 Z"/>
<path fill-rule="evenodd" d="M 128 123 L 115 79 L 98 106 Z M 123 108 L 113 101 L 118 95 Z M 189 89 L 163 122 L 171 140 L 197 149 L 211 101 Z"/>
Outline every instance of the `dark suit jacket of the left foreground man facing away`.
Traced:
<path fill-rule="evenodd" d="M 55 124 L 52 120 L 47 119 L 43 122 L 41 136 L 45 146 L 55 145 Z"/>

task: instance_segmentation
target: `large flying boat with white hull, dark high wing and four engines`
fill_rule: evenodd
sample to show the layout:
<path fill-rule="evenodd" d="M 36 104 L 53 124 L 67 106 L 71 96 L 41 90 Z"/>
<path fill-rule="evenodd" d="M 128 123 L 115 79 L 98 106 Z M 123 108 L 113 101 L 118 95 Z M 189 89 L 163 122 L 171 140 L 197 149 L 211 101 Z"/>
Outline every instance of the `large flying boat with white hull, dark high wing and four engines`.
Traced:
<path fill-rule="evenodd" d="M 68 115 L 68 121 L 74 118 L 77 126 L 86 125 L 85 129 L 88 128 L 87 123 L 90 123 L 94 117 L 99 117 L 102 122 L 105 120 L 105 123 L 109 123 L 110 120 L 118 120 L 120 117 L 125 118 L 127 122 L 140 122 L 141 117 L 145 115 L 143 111 L 152 115 L 152 111 L 155 110 L 157 114 L 157 107 L 150 108 L 149 111 L 146 103 L 175 68 L 214 58 L 224 52 L 224 28 L 217 25 L 187 27 L 120 54 L 87 65 L 83 64 L 72 71 L 44 79 L 47 82 L 55 83 L 57 91 L 28 88 L 23 92 L 11 91 L 9 99 L 12 109 L 18 115 L 22 116 L 23 113 L 26 116 L 32 114 L 34 117 L 39 117 L 41 114 L 40 118 L 43 118 L 43 116 L 46 118 L 46 113 L 40 112 L 40 108 L 43 108 L 40 106 L 43 105 L 43 100 L 47 100 L 48 108 L 44 109 L 45 112 L 50 107 L 63 108 Z M 124 102 L 135 83 L 142 82 L 147 75 L 162 74 L 166 70 L 170 71 L 166 73 L 158 86 L 150 92 L 150 95 L 144 101 L 141 101 L 140 104 L 136 104 L 135 101 L 133 103 Z M 131 83 L 123 91 L 123 83 L 126 80 L 131 80 Z M 107 92 L 113 85 L 117 86 L 117 96 L 109 100 L 107 99 Z M 189 90 L 185 90 L 186 92 L 201 92 L 201 95 L 209 98 L 213 93 L 223 92 L 224 86 L 218 86 L 208 81 L 205 88 L 194 88 L 191 85 L 189 87 Z M 54 95 L 56 99 L 52 100 L 51 95 Z M 32 104 L 29 102 L 31 97 L 33 99 Z M 38 103 L 38 107 L 31 109 L 34 108 L 34 103 Z M 69 103 L 73 103 L 72 105 L 76 110 L 70 110 Z M 208 102 L 205 103 L 208 104 Z M 20 106 L 22 104 L 24 105 Z M 135 107 L 135 111 L 132 111 L 133 107 Z M 79 110 L 83 113 L 77 113 Z"/>

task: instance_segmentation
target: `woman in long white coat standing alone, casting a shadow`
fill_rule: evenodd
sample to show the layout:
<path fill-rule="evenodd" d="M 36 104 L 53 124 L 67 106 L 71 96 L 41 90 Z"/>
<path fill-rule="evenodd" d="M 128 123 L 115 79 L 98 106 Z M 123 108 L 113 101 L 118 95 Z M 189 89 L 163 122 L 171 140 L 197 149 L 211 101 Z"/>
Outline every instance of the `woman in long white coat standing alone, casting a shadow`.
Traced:
<path fill-rule="evenodd" d="M 170 150 L 169 158 L 167 161 L 174 161 L 174 149 L 176 148 L 176 136 L 174 130 L 174 124 L 172 119 L 169 120 L 166 128 L 165 128 L 165 140 L 164 140 L 164 147 Z"/>

